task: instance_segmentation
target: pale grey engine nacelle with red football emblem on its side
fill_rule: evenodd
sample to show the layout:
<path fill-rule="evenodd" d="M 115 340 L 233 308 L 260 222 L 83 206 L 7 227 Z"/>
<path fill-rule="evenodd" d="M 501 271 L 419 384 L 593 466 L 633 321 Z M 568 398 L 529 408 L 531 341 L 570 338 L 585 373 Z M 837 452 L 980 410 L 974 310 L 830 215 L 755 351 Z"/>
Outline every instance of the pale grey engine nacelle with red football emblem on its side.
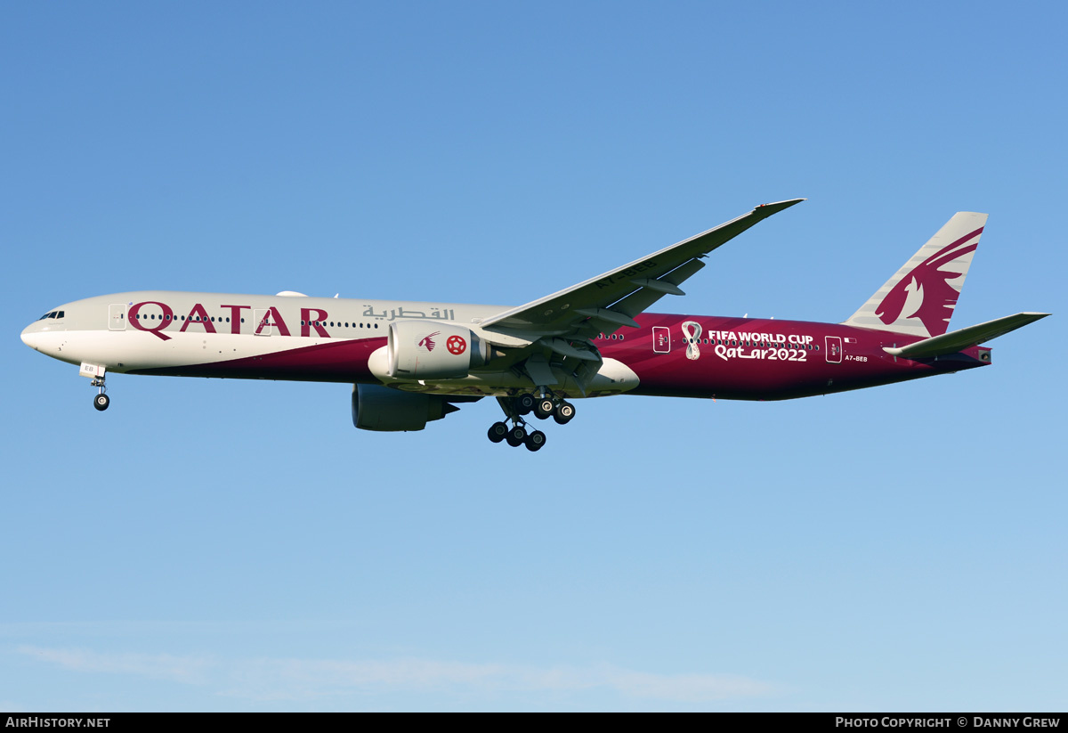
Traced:
<path fill-rule="evenodd" d="M 471 329 L 439 321 L 394 321 L 387 343 L 393 379 L 462 379 L 489 358 L 489 344 Z"/>

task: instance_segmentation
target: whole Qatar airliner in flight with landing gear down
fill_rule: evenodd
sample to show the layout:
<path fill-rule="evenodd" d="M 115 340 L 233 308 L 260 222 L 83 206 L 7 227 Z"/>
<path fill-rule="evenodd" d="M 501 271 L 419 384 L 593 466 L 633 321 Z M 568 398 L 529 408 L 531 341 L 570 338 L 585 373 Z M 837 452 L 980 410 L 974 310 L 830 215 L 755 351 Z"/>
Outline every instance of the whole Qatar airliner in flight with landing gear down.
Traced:
<path fill-rule="evenodd" d="M 788 400 L 990 363 L 980 344 L 1048 313 L 947 332 L 985 214 L 955 214 L 839 324 L 669 315 L 646 309 L 720 245 L 802 199 L 737 219 L 524 306 L 140 291 L 48 311 L 22 341 L 79 364 L 107 409 L 120 374 L 351 384 L 352 422 L 419 431 L 496 396 L 489 439 L 537 451 L 525 417 L 575 417 L 569 400 L 614 394 Z"/>

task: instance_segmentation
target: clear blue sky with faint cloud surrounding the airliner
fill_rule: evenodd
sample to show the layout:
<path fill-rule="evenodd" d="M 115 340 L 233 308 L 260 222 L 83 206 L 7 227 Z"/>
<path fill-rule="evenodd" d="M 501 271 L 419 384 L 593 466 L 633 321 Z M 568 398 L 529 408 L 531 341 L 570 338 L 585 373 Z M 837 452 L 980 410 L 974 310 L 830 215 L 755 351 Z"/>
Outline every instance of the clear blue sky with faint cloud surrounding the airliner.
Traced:
<path fill-rule="evenodd" d="M 1064 709 L 1056 3 L 6 3 L 0 708 Z M 808 201 L 684 301 L 843 321 L 954 212 L 994 367 L 786 403 L 115 375 L 140 288 L 518 305 Z M 662 306 L 662 303 L 661 303 Z"/>

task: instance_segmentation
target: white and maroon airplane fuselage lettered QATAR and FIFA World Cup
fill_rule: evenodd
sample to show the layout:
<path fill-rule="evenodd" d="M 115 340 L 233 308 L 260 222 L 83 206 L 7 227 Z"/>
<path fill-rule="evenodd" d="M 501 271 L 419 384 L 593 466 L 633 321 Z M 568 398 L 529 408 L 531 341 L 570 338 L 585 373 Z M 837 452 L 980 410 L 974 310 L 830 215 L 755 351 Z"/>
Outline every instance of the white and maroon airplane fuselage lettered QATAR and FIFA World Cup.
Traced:
<path fill-rule="evenodd" d="M 389 326 L 433 321 L 477 328 L 501 306 L 141 291 L 78 300 L 31 324 L 38 352 L 108 372 L 242 379 L 394 384 L 382 367 Z M 54 314 L 54 315 L 53 315 Z M 901 381 L 990 363 L 974 346 L 933 359 L 884 347 L 921 340 L 841 324 L 642 313 L 638 328 L 592 340 L 603 363 L 563 396 L 646 394 L 784 400 Z M 507 360 L 456 379 L 410 385 L 436 394 L 516 394 L 535 387 Z"/>

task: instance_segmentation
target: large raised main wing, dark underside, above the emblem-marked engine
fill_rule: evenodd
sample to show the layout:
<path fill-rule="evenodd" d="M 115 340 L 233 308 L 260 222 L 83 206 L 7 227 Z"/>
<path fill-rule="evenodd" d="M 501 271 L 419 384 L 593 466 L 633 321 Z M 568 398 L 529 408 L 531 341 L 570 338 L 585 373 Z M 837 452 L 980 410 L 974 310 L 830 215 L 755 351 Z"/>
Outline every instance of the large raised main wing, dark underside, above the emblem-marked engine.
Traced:
<path fill-rule="evenodd" d="M 657 300 L 665 295 L 685 295 L 679 285 L 705 266 L 702 258 L 758 221 L 802 201 L 761 204 L 737 219 L 641 260 L 484 318 L 481 330 L 504 346 L 537 343 L 564 357 L 600 361 L 590 339 L 611 333 L 621 326 L 637 328 L 634 316 Z"/>

